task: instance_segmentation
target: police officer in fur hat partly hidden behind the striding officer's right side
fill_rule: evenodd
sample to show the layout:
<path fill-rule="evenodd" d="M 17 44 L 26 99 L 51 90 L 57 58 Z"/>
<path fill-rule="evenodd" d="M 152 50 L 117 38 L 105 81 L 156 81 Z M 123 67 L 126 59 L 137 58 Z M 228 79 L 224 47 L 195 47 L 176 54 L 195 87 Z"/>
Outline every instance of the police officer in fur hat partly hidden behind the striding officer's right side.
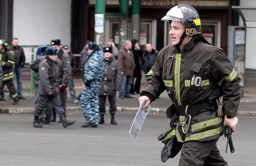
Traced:
<path fill-rule="evenodd" d="M 64 55 L 64 51 L 60 47 L 60 39 L 53 39 L 51 40 L 51 46 L 56 47 L 58 50 L 58 58 L 62 61 L 62 68 L 60 69 L 60 84 L 62 86 L 66 86 L 69 82 L 69 79 L 71 77 L 71 65 L 68 57 Z M 61 106 L 64 109 L 64 113 L 66 116 L 66 100 L 65 100 L 65 91 L 60 92 L 60 101 L 61 101 Z M 53 109 L 53 119 L 51 122 L 56 121 L 56 110 Z M 59 120 L 61 122 L 61 120 Z"/>

